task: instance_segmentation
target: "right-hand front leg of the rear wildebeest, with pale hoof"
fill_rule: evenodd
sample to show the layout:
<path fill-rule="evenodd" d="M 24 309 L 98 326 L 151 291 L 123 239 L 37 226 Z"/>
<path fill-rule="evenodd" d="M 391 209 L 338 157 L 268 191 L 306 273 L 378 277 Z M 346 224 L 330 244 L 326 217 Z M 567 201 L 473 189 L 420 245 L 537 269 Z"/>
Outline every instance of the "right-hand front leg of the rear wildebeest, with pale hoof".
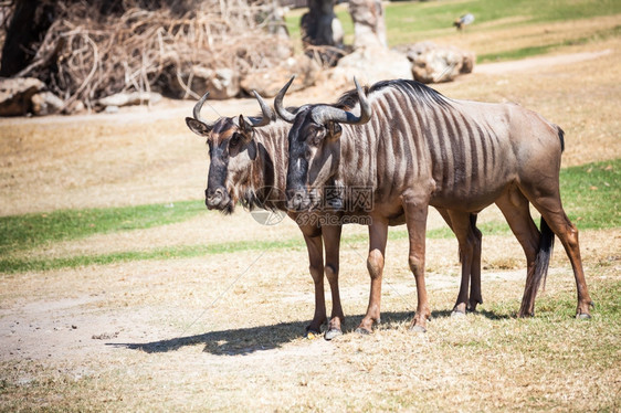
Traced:
<path fill-rule="evenodd" d="M 326 266 L 324 271 L 326 278 L 328 278 L 333 297 L 333 311 L 328 322 L 328 329 L 324 336 L 326 340 L 331 340 L 343 333 L 341 324 L 345 320 L 345 315 L 343 314 L 343 307 L 340 305 L 340 294 L 338 292 L 338 256 L 341 229 L 340 225 L 326 225 L 322 227 L 326 250 Z"/>

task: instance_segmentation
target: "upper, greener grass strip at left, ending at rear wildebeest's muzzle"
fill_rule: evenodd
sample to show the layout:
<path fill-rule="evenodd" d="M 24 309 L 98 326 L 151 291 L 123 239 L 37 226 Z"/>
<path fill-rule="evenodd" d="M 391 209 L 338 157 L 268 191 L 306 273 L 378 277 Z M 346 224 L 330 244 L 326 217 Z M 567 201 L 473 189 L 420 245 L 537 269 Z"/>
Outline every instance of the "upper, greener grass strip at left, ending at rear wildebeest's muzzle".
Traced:
<path fill-rule="evenodd" d="M 48 242 L 161 226 L 199 213 L 204 213 L 201 201 L 183 201 L 0 216 L 0 255 L 33 248 Z"/>

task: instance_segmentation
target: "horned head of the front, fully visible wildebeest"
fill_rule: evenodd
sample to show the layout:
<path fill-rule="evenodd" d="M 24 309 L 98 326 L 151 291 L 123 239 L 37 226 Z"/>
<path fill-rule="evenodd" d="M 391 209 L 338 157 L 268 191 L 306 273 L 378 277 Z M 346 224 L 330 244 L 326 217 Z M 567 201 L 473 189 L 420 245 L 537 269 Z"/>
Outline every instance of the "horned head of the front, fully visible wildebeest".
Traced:
<path fill-rule="evenodd" d="M 299 211 L 317 206 L 324 186 L 333 178 L 340 161 L 340 124 L 360 125 L 369 121 L 371 108 L 365 92 L 354 80 L 360 115 L 333 105 L 306 105 L 296 113 L 283 106 L 283 97 L 294 77 L 274 100 L 280 117 L 293 124 L 288 134 L 287 208 Z"/>

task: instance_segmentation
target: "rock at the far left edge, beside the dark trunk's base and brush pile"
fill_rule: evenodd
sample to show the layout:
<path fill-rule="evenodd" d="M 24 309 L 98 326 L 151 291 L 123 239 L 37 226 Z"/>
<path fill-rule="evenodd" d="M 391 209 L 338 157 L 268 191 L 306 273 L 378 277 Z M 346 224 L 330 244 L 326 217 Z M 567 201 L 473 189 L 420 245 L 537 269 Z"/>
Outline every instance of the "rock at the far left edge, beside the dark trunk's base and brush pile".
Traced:
<path fill-rule="evenodd" d="M 23 116 L 32 110 L 32 96 L 45 84 L 33 77 L 0 78 L 0 116 Z"/>

